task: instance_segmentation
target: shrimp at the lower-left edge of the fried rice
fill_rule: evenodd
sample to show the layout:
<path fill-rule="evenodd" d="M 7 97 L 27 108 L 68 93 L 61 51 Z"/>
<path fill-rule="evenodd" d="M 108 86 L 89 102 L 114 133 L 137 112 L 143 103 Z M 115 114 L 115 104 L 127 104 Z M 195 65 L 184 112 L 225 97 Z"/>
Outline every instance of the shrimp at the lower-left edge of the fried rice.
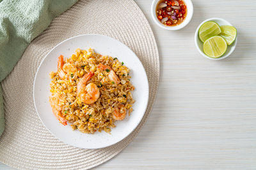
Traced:
<path fill-rule="evenodd" d="M 52 107 L 52 112 L 55 115 L 56 118 L 60 121 L 61 124 L 67 125 L 67 120 L 61 115 L 61 106 L 60 104 L 60 94 L 55 93 L 50 96 L 50 104 Z"/>

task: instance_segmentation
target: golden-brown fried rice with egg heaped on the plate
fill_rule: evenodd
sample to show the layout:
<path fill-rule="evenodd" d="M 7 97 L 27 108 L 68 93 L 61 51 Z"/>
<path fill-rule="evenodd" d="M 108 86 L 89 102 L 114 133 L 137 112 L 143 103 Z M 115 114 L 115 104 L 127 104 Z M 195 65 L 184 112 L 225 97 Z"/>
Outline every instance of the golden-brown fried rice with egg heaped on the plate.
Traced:
<path fill-rule="evenodd" d="M 65 80 L 61 80 L 58 71 L 51 72 L 51 93 L 60 96 L 58 106 L 61 107 L 61 116 L 67 120 L 72 129 L 78 129 L 83 133 L 93 134 L 97 131 L 105 131 L 110 133 L 111 128 L 115 127 L 115 118 L 113 111 L 118 105 L 123 104 L 124 110 L 128 115 L 132 112 L 131 91 L 134 87 L 131 84 L 129 68 L 124 62 L 118 59 L 100 55 L 91 48 L 80 50 L 77 48 L 76 53 L 70 58 L 66 58 L 64 63 L 72 64 L 76 67 L 76 71 L 70 71 Z M 111 67 L 120 79 L 117 85 L 113 81 L 109 81 L 108 69 L 101 70 L 99 64 Z M 99 88 L 100 96 L 93 104 L 85 104 L 77 97 L 77 83 L 89 72 L 94 75 L 87 83 L 95 83 Z"/>

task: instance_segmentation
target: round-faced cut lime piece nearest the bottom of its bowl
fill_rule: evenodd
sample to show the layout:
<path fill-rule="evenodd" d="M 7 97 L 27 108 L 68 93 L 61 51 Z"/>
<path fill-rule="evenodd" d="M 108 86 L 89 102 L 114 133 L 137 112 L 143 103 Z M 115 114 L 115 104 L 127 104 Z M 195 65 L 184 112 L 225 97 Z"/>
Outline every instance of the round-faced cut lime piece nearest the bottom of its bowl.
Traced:
<path fill-rule="evenodd" d="M 221 57 L 226 50 L 227 42 L 221 36 L 212 36 L 204 42 L 204 53 L 209 57 Z"/>

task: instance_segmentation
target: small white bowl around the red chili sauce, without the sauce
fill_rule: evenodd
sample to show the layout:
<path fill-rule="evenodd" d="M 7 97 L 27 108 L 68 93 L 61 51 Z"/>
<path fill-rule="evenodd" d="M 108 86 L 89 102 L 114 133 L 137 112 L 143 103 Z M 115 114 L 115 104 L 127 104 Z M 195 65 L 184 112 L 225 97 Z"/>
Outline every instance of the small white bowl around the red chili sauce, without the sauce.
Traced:
<path fill-rule="evenodd" d="M 193 16 L 193 4 L 192 4 L 191 0 L 183 0 L 183 1 L 187 6 L 187 12 L 188 12 L 185 20 L 177 26 L 166 26 L 166 25 L 162 24 L 157 19 L 157 16 L 156 16 L 156 6 L 157 6 L 157 3 L 159 2 L 159 0 L 153 0 L 152 5 L 151 5 L 151 15 L 152 15 L 154 22 L 156 22 L 156 24 L 159 27 L 161 27 L 163 29 L 170 30 L 170 31 L 179 30 L 179 29 L 182 29 L 183 27 L 185 27 L 186 25 L 188 25 L 188 23 L 190 22 L 190 20 Z"/>

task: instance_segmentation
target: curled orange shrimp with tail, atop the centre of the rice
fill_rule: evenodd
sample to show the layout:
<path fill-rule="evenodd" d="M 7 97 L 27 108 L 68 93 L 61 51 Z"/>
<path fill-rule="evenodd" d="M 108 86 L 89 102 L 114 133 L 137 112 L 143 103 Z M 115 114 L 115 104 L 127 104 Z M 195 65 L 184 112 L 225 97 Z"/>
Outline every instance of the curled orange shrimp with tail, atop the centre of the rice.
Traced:
<path fill-rule="evenodd" d="M 86 104 L 93 104 L 100 97 L 100 90 L 95 83 L 86 85 L 93 75 L 94 73 L 89 72 L 77 83 L 77 96 L 81 99 L 81 102 Z"/>

